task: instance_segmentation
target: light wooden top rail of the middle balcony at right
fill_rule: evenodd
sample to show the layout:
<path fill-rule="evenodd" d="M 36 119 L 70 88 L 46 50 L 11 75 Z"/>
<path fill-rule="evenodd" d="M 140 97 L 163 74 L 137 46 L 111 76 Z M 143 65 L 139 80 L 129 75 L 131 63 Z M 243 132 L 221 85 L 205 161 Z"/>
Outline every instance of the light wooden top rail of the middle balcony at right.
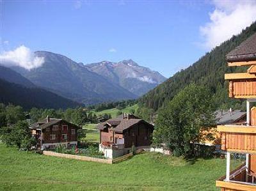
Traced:
<path fill-rule="evenodd" d="M 218 125 L 218 132 L 256 134 L 256 126 L 245 125 Z"/>

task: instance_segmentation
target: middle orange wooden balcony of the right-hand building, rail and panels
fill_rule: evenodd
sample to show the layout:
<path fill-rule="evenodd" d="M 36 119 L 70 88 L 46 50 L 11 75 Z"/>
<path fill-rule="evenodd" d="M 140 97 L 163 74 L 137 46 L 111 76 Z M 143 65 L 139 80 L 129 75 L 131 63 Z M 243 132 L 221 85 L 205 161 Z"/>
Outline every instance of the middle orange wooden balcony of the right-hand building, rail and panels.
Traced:
<path fill-rule="evenodd" d="M 221 149 L 225 151 L 256 153 L 256 126 L 218 125 Z"/>

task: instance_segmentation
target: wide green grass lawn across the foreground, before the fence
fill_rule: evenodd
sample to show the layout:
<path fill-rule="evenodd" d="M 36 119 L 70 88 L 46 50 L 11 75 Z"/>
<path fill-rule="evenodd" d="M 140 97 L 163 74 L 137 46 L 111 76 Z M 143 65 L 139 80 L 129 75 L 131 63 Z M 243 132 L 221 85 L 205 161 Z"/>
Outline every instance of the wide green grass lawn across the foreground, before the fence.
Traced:
<path fill-rule="evenodd" d="M 200 159 L 193 165 L 166 160 L 144 153 L 118 164 L 99 164 L 0 144 L 0 190 L 217 190 L 215 180 L 225 174 L 225 160 Z"/>

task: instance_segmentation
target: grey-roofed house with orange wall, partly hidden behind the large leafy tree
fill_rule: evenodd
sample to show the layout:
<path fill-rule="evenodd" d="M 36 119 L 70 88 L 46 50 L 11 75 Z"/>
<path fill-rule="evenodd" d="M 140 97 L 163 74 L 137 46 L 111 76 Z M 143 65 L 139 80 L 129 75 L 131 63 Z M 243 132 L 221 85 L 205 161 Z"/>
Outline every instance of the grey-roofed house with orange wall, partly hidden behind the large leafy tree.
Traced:
<path fill-rule="evenodd" d="M 217 131 L 217 125 L 242 125 L 246 123 L 246 112 L 241 110 L 218 110 L 214 112 L 216 118 L 216 125 L 214 125 L 209 130 L 203 130 L 201 134 L 203 139 L 200 143 L 206 145 L 220 145 L 221 144 L 221 134 Z"/>

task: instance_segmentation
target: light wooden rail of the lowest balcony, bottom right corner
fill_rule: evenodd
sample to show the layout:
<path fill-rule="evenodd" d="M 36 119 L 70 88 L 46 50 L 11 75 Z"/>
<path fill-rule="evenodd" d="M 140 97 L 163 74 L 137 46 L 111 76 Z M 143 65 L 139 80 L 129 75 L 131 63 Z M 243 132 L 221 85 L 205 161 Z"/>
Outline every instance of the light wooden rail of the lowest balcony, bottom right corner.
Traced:
<path fill-rule="evenodd" d="M 239 183 L 233 183 L 230 181 L 216 181 L 216 187 L 221 188 L 228 188 L 229 190 L 244 190 L 244 191 L 255 191 L 256 186 L 254 185 L 246 185 L 246 184 L 239 184 Z"/>

